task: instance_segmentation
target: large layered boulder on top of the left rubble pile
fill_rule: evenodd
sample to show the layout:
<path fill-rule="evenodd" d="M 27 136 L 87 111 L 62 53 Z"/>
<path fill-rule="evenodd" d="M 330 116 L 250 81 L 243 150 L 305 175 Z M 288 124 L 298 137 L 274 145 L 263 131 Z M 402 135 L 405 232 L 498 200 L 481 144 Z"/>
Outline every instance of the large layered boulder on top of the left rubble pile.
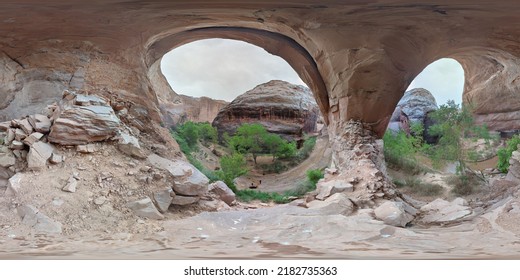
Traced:
<path fill-rule="evenodd" d="M 81 145 L 116 135 L 120 120 L 103 99 L 64 91 L 54 112 L 48 139 L 61 145 Z"/>

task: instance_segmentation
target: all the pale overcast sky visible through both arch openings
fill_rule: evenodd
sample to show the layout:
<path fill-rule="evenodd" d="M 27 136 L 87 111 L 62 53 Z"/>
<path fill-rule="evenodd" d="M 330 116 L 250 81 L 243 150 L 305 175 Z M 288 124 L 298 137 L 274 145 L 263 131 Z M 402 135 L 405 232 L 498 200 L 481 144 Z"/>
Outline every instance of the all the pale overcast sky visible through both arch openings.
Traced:
<path fill-rule="evenodd" d="M 164 55 L 161 71 L 173 90 L 189 96 L 232 101 L 238 95 L 270 80 L 305 85 L 289 64 L 264 49 L 236 40 L 206 39 L 173 49 Z M 450 58 L 426 67 L 408 89 L 429 90 L 437 104 L 460 104 L 464 70 Z"/>

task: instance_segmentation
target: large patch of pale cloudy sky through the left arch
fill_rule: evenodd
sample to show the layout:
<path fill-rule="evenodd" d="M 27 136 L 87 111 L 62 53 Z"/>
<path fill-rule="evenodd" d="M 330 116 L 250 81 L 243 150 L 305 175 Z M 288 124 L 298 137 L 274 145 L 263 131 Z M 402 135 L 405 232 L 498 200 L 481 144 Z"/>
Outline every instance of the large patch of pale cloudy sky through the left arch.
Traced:
<path fill-rule="evenodd" d="M 180 46 L 164 55 L 161 71 L 179 94 L 226 101 L 270 80 L 305 85 L 284 59 L 236 40 L 207 39 Z"/>

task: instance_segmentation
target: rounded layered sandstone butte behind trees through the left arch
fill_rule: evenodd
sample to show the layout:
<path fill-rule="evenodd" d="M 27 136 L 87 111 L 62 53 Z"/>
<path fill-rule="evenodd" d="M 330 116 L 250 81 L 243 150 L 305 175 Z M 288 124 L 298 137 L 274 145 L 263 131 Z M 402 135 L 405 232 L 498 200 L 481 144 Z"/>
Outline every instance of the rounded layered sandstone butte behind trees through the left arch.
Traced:
<path fill-rule="evenodd" d="M 213 121 L 219 136 L 234 134 L 244 124 L 255 122 L 286 140 L 299 140 L 317 130 L 320 117 L 311 91 L 284 81 L 270 81 L 238 96 Z"/>

